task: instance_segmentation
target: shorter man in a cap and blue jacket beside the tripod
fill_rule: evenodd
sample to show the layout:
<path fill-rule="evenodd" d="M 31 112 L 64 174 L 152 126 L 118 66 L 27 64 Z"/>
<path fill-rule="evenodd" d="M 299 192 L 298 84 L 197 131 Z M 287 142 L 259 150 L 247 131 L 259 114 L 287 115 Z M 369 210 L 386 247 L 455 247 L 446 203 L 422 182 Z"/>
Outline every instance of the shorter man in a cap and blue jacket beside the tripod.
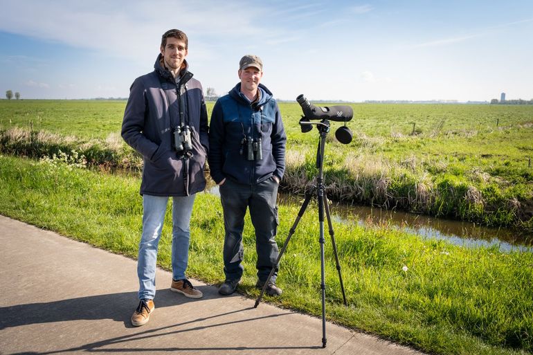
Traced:
<path fill-rule="evenodd" d="M 260 81 L 263 64 L 256 55 L 240 60 L 240 82 L 219 98 L 210 122 L 210 174 L 219 185 L 224 210 L 224 274 L 219 293 L 231 295 L 243 272 L 242 231 L 246 208 L 255 228 L 258 282 L 262 288 L 278 258 L 276 198 L 285 171 L 285 143 L 280 109 Z M 266 293 L 280 295 L 273 273 Z"/>

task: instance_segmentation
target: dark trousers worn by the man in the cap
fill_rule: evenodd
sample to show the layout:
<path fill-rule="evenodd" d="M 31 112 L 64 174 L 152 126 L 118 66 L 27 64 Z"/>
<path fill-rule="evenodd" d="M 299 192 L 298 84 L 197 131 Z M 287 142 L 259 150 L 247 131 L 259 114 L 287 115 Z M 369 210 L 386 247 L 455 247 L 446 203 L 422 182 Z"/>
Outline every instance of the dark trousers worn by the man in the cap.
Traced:
<path fill-rule="evenodd" d="M 244 267 L 242 258 L 242 230 L 246 208 L 255 228 L 255 251 L 258 253 L 258 279 L 266 281 L 278 259 L 278 245 L 275 234 L 278 230 L 278 183 L 273 178 L 255 185 L 243 185 L 226 179 L 219 188 L 222 209 L 224 210 L 224 273 L 226 280 L 239 280 Z M 278 275 L 276 268 L 271 281 Z"/>

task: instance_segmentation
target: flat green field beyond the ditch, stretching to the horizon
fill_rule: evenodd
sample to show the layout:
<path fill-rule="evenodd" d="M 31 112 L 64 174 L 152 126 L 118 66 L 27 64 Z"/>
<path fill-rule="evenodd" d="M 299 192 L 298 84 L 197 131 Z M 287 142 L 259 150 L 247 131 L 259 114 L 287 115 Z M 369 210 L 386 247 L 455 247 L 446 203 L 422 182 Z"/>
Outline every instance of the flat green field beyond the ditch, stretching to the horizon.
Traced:
<path fill-rule="evenodd" d="M 327 140 L 330 197 L 533 233 L 533 105 L 352 107 L 352 143 L 333 138 L 337 122 Z M 120 138 L 124 108 L 125 101 L 1 100 L 0 151 L 75 150 L 101 167 L 141 167 Z M 318 134 L 301 133 L 298 104 L 280 109 L 289 137 L 282 188 L 300 193 L 316 174 Z"/>

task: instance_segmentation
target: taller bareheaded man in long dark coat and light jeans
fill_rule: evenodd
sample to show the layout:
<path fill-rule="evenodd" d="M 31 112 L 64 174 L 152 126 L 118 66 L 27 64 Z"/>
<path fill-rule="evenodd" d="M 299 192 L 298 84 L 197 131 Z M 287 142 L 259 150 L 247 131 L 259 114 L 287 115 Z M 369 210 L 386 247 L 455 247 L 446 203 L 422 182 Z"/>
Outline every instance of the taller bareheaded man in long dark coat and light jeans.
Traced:
<path fill-rule="evenodd" d="M 168 30 L 154 71 L 137 78 L 129 92 L 122 136 L 143 156 L 141 182 L 143 233 L 137 275 L 139 304 L 132 325 L 144 325 L 154 311 L 156 260 L 169 197 L 172 197 L 172 284 L 188 298 L 202 293 L 187 280 L 190 217 L 195 194 L 204 190 L 204 165 L 209 148 L 204 93 L 192 79 L 185 57 L 188 38 Z"/>

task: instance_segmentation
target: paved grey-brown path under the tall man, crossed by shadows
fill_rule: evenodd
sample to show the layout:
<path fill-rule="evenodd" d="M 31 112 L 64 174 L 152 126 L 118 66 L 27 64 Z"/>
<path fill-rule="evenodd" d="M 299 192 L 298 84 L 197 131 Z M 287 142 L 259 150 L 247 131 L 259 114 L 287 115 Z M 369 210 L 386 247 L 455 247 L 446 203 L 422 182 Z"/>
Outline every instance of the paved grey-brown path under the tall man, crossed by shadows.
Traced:
<path fill-rule="evenodd" d="M 98 228 L 96 226 L 96 228 Z M 152 318 L 132 327 L 136 261 L 0 216 L 0 354 L 420 354 L 193 280 L 170 291 L 158 269 Z M 318 297 L 318 293 L 317 293 Z"/>

